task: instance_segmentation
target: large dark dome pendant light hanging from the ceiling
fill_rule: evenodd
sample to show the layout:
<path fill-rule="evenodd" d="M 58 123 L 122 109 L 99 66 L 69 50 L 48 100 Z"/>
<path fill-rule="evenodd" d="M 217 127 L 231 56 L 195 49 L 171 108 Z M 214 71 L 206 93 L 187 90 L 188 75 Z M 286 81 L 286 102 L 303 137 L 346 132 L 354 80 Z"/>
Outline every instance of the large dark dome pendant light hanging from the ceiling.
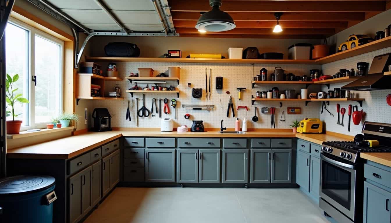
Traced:
<path fill-rule="evenodd" d="M 221 11 L 221 0 L 209 0 L 212 10 L 205 12 L 199 17 L 195 29 L 200 32 L 223 32 L 236 27 L 230 14 Z"/>

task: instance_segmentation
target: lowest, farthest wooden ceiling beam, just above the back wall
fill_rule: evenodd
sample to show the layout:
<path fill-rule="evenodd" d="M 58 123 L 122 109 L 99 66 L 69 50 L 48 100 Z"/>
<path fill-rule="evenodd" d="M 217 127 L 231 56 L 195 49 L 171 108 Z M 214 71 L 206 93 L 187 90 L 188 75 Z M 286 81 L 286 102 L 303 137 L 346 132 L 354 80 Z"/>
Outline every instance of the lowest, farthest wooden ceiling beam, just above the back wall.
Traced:
<path fill-rule="evenodd" d="M 176 32 L 188 33 L 188 34 L 199 34 L 195 28 L 176 28 Z M 233 29 L 225 32 L 208 32 L 213 35 L 224 35 L 224 34 L 262 34 L 262 35 L 290 35 L 290 34 L 302 34 L 302 35 L 332 35 L 335 33 L 335 29 L 284 29 L 281 33 L 273 33 L 273 29 Z"/>

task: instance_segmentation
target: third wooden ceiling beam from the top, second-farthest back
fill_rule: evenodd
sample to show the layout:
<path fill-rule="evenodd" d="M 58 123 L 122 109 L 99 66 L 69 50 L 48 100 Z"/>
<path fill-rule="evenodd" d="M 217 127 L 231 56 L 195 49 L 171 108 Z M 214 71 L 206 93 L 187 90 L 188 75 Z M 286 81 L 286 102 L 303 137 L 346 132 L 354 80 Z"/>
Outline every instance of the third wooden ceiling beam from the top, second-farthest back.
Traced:
<path fill-rule="evenodd" d="M 194 28 L 195 20 L 176 20 L 174 26 L 176 28 Z M 276 25 L 276 21 L 235 21 L 236 29 L 243 28 L 273 28 Z M 281 21 L 280 25 L 283 29 L 303 28 L 303 29 L 346 29 L 348 22 L 344 21 Z"/>

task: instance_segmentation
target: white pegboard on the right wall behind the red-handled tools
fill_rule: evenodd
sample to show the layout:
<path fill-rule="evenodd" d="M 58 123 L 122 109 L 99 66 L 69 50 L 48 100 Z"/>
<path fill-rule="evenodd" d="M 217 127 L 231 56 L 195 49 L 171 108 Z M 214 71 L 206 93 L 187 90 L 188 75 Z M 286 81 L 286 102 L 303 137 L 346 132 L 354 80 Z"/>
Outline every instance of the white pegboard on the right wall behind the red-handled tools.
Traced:
<path fill-rule="evenodd" d="M 335 61 L 323 65 L 323 73 L 325 75 L 333 75 L 339 71 L 339 69 L 351 69 L 357 70 L 357 62 L 368 62 L 369 68 L 373 60 L 373 57 L 391 53 L 391 47 L 384 48 L 381 50 L 376 50 L 369 52 L 367 54 L 358 55 L 355 57 L 350 57 L 341 61 Z M 344 86 L 346 83 L 341 84 L 330 84 L 330 89 L 335 87 Z M 391 83 L 389 83 L 391 84 Z M 322 86 L 322 91 L 328 91 L 326 86 Z M 342 134 L 348 134 L 354 136 L 355 134 L 361 133 L 362 124 L 364 121 L 373 121 L 380 123 L 391 123 L 391 107 L 386 103 L 386 96 L 391 94 L 391 90 L 379 90 L 379 91 L 351 91 L 355 93 L 355 98 L 364 98 L 365 101 L 360 107 L 357 102 L 339 102 L 341 108 L 346 109 L 346 114 L 344 117 L 344 127 L 337 125 L 337 102 L 330 102 L 328 109 L 334 114 L 334 117 L 330 116 L 327 112 L 321 114 L 321 120 L 325 122 L 326 129 L 332 132 L 339 132 Z M 361 121 L 360 125 L 354 125 L 353 121 L 351 122 L 350 132 L 348 132 L 348 105 L 352 104 L 359 107 L 359 111 L 362 109 L 366 112 L 364 120 Z M 340 117 L 342 118 L 342 116 Z M 341 120 L 340 120 L 341 121 Z"/>

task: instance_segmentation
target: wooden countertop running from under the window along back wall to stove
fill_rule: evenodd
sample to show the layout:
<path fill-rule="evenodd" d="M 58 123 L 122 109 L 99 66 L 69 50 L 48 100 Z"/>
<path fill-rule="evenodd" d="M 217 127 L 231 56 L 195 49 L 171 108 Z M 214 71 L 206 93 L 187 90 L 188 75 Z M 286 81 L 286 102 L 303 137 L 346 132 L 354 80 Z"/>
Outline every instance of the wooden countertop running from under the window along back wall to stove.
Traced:
<path fill-rule="evenodd" d="M 316 144 L 323 141 L 352 140 L 346 135 L 300 134 L 289 129 L 257 129 L 246 134 L 221 134 L 217 130 L 207 132 L 160 132 L 160 128 L 118 128 L 110 132 L 88 132 L 77 136 L 65 137 L 36 145 L 23 146 L 7 151 L 11 159 L 71 159 L 93 148 L 99 147 L 121 136 L 128 137 L 265 137 L 265 138 L 294 138 L 298 137 Z"/>

